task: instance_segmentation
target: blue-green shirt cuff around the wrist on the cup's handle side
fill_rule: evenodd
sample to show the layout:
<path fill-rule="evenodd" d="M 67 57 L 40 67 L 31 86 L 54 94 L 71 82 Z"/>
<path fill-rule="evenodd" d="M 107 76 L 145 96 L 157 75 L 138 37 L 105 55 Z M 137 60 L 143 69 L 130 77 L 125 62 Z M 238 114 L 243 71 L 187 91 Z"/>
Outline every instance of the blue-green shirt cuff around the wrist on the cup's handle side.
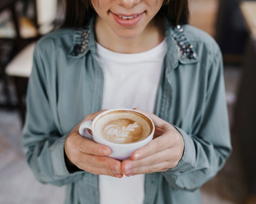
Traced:
<path fill-rule="evenodd" d="M 66 163 L 65 163 L 64 144 L 65 144 L 65 140 L 66 140 L 67 136 L 68 136 L 68 134 L 65 134 L 61 138 L 57 139 L 54 142 L 54 144 L 51 146 L 50 154 L 51 154 L 51 159 L 52 159 L 53 172 L 55 175 L 63 176 L 63 175 L 69 175 L 69 174 L 73 173 L 73 172 L 68 171 Z M 81 171 L 79 171 L 79 172 L 81 172 Z M 74 173 L 76 173 L 76 172 L 74 172 Z"/>

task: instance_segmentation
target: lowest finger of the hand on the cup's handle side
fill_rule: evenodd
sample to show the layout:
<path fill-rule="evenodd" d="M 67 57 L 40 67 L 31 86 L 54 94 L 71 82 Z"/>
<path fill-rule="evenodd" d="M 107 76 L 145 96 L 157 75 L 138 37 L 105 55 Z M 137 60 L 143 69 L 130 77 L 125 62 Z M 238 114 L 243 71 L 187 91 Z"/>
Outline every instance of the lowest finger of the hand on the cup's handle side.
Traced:
<path fill-rule="evenodd" d="M 78 163 L 77 167 L 79 169 L 83 169 L 84 171 L 90 172 L 95 175 L 109 175 L 117 178 L 122 178 L 123 174 L 121 173 L 113 173 L 110 169 L 103 169 L 99 167 L 90 167 L 88 165 L 85 165 L 83 163 Z"/>

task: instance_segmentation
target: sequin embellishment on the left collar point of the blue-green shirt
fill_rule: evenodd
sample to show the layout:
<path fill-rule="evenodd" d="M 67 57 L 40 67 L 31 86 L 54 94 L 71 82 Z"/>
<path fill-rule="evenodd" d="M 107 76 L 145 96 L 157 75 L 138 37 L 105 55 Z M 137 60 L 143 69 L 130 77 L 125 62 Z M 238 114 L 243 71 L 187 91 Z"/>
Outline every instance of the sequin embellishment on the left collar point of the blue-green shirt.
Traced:
<path fill-rule="evenodd" d="M 79 30 L 75 32 L 74 47 L 70 55 L 80 56 L 88 49 L 90 33 L 90 30 Z"/>

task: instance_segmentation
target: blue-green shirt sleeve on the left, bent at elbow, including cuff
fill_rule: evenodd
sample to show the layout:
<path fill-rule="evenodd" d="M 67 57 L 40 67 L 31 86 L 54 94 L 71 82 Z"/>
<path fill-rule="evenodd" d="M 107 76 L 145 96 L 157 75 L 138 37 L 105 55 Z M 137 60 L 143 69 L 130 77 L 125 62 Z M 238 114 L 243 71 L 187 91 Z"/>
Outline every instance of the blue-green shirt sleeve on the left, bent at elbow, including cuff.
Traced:
<path fill-rule="evenodd" d="M 75 182 L 84 171 L 69 173 L 64 160 L 68 134 L 60 135 L 47 94 L 44 63 L 36 46 L 27 89 L 27 113 L 22 129 L 22 146 L 36 178 L 57 186 Z"/>

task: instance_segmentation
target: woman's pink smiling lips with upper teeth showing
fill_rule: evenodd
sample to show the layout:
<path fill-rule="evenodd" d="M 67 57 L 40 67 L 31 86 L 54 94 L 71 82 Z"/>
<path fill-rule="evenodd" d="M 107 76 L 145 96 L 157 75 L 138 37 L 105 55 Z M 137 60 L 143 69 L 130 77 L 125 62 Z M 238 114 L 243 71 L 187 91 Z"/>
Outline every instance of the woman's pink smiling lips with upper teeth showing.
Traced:
<path fill-rule="evenodd" d="M 123 13 L 112 13 L 110 11 L 112 17 L 117 22 L 117 24 L 124 26 L 124 27 L 130 27 L 135 26 L 139 21 L 141 20 L 143 13 L 131 13 L 131 14 L 123 14 Z"/>

